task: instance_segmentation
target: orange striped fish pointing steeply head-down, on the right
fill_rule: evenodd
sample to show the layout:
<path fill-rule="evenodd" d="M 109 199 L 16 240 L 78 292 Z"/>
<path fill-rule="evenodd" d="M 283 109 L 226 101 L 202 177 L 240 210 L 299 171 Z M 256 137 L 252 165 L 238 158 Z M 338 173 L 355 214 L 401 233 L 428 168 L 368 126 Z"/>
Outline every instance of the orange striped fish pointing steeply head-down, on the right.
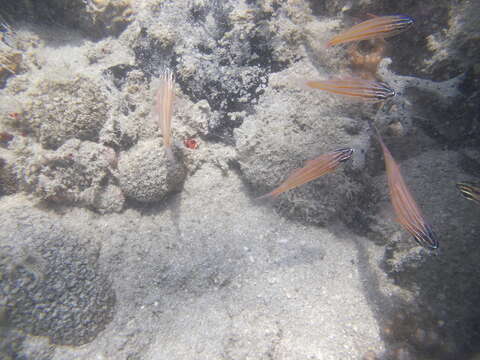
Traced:
<path fill-rule="evenodd" d="M 380 133 L 375 128 L 378 141 L 383 150 L 385 168 L 387 170 L 390 201 L 397 215 L 397 221 L 414 237 L 421 246 L 436 249 L 438 240 L 429 224 L 424 220 L 422 212 L 415 199 L 408 190 L 400 172 L 400 167 L 393 159 L 390 150 L 382 140 Z"/>

